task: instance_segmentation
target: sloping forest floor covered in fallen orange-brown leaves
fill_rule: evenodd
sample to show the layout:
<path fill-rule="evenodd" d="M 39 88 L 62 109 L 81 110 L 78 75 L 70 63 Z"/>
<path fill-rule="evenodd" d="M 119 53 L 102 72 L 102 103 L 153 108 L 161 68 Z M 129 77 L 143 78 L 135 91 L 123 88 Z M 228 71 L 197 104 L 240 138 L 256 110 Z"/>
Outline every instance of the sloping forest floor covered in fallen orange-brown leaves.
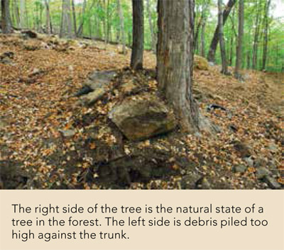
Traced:
<path fill-rule="evenodd" d="M 219 66 L 196 69 L 195 98 L 217 135 L 177 129 L 130 142 L 107 118 L 115 91 L 89 107 L 73 97 L 88 74 L 107 69 L 119 70 L 117 81 L 134 79 L 156 91 L 153 53 L 145 53 L 145 70 L 132 72 L 130 51 L 120 50 L 103 42 L 0 35 L 0 55 L 13 52 L 0 58 L 4 188 L 283 188 L 283 74 L 244 71 L 240 82 Z"/>

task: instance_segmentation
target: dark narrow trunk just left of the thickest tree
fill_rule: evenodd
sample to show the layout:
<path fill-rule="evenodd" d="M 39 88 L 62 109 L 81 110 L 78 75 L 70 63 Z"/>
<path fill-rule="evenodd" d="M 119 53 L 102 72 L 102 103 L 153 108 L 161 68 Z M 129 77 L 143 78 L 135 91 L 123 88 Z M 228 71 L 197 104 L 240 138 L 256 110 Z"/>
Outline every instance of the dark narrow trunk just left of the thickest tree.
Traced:
<path fill-rule="evenodd" d="M 144 50 L 144 13 L 143 1 L 132 0 L 133 8 L 133 43 L 131 52 L 131 68 L 143 68 Z"/>

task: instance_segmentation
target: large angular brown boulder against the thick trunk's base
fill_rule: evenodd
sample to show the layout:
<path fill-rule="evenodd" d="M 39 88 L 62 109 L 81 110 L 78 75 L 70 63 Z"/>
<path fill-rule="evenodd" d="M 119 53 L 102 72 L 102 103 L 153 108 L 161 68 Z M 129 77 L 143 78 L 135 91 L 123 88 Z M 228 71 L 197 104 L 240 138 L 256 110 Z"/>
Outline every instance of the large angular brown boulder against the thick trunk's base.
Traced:
<path fill-rule="evenodd" d="M 125 99 L 109 112 L 109 118 L 129 140 L 144 140 L 176 126 L 173 111 L 150 95 Z"/>

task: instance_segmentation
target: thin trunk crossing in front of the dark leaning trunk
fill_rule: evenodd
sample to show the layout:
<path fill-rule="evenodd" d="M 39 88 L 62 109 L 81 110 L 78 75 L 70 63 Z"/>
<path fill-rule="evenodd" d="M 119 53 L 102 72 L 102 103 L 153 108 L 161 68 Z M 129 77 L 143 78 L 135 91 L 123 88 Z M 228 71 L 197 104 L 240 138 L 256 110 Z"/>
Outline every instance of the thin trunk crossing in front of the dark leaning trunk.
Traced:
<path fill-rule="evenodd" d="M 223 16 L 222 16 L 222 0 L 218 0 L 218 26 L 219 26 L 219 43 L 222 59 L 222 74 L 229 74 L 228 64 L 226 62 L 226 49 L 224 42 L 224 31 L 223 31 Z"/>

